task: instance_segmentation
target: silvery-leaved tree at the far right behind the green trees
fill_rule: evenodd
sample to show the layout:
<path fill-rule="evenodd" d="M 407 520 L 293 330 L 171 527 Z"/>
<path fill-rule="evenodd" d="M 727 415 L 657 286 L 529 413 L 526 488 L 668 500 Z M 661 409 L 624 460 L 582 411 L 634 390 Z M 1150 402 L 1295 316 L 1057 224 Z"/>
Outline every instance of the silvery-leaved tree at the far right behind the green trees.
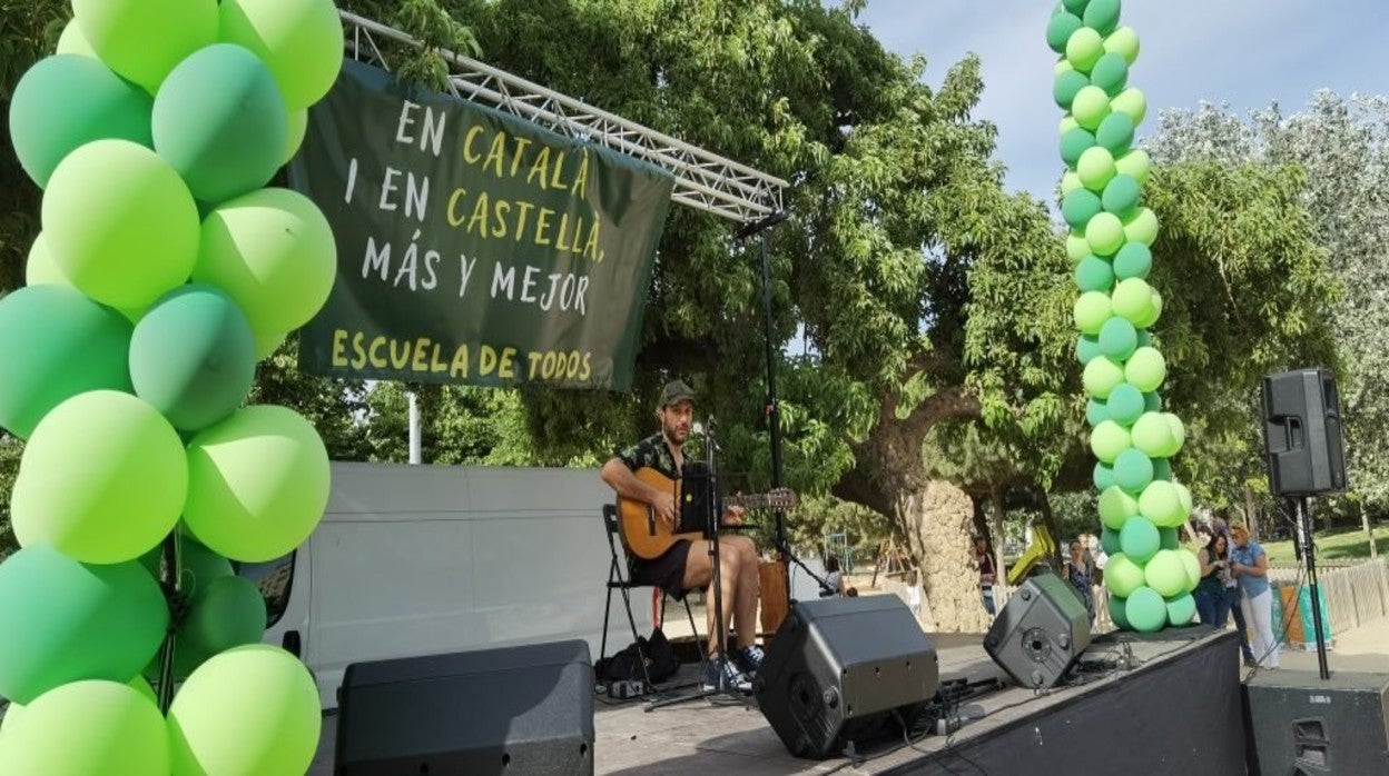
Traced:
<path fill-rule="evenodd" d="M 1154 158 L 1224 164 L 1297 165 L 1307 178 L 1300 201 L 1310 212 L 1311 237 L 1326 250 L 1342 296 L 1328 305 L 1338 354 L 1322 353 L 1290 366 L 1338 368 L 1340 410 L 1353 497 L 1389 507 L 1389 100 L 1339 97 L 1321 90 L 1285 117 L 1275 104 L 1240 118 L 1228 107 L 1203 104 L 1163 115 L 1150 143 Z M 1339 355 L 1336 358 L 1335 355 Z M 1260 444 L 1251 444 L 1260 448 Z M 1263 479 L 1263 478 L 1258 478 Z"/>

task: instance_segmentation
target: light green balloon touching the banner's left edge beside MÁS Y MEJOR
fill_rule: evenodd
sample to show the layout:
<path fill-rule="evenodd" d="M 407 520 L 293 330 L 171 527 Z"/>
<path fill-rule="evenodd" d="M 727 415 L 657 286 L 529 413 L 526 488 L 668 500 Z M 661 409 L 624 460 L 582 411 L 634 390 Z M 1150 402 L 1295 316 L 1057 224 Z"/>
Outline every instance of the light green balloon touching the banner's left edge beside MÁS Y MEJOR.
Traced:
<path fill-rule="evenodd" d="M 289 189 L 236 197 L 203 221 L 193 280 L 224 290 L 257 337 L 308 322 L 328 300 L 338 247 L 328 219 Z"/>

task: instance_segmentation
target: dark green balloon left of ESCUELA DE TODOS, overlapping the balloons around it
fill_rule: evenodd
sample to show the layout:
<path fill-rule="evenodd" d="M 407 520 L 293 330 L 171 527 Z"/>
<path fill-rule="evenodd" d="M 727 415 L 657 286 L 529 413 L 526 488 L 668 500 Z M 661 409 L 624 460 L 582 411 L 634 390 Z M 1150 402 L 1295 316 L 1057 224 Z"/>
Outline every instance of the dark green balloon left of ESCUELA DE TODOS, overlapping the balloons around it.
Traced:
<path fill-rule="evenodd" d="M 140 318 L 131 337 L 135 393 L 179 430 L 232 414 L 256 379 L 256 336 L 240 308 L 211 286 L 183 286 Z"/>

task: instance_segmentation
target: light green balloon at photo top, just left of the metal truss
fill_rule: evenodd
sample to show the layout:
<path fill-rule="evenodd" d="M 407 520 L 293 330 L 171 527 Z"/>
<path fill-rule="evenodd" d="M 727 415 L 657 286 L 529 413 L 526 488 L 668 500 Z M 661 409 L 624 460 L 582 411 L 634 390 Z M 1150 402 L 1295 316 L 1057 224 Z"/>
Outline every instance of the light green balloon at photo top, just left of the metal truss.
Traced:
<path fill-rule="evenodd" d="M 332 0 L 222 0 L 221 39 L 269 67 L 292 111 L 326 94 L 343 64 L 343 28 Z"/>

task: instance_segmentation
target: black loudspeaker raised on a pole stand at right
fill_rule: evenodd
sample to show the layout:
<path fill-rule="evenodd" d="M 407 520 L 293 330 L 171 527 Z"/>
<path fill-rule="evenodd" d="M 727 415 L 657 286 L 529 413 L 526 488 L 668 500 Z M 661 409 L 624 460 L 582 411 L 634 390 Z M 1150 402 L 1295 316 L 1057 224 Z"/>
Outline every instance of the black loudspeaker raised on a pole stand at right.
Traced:
<path fill-rule="evenodd" d="M 1263 394 L 1270 489 L 1281 496 L 1346 490 L 1335 375 L 1325 369 L 1270 375 Z"/>

